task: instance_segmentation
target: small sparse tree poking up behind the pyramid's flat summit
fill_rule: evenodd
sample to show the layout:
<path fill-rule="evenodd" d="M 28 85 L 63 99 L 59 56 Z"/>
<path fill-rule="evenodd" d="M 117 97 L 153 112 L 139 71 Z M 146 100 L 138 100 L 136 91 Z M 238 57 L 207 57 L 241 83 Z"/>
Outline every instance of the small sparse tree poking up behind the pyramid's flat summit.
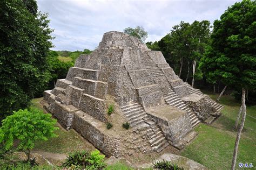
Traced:
<path fill-rule="evenodd" d="M 127 27 L 124 29 L 124 33 L 137 37 L 141 42 L 145 42 L 147 38 L 147 32 L 142 26 L 136 26 L 134 29 Z"/>

